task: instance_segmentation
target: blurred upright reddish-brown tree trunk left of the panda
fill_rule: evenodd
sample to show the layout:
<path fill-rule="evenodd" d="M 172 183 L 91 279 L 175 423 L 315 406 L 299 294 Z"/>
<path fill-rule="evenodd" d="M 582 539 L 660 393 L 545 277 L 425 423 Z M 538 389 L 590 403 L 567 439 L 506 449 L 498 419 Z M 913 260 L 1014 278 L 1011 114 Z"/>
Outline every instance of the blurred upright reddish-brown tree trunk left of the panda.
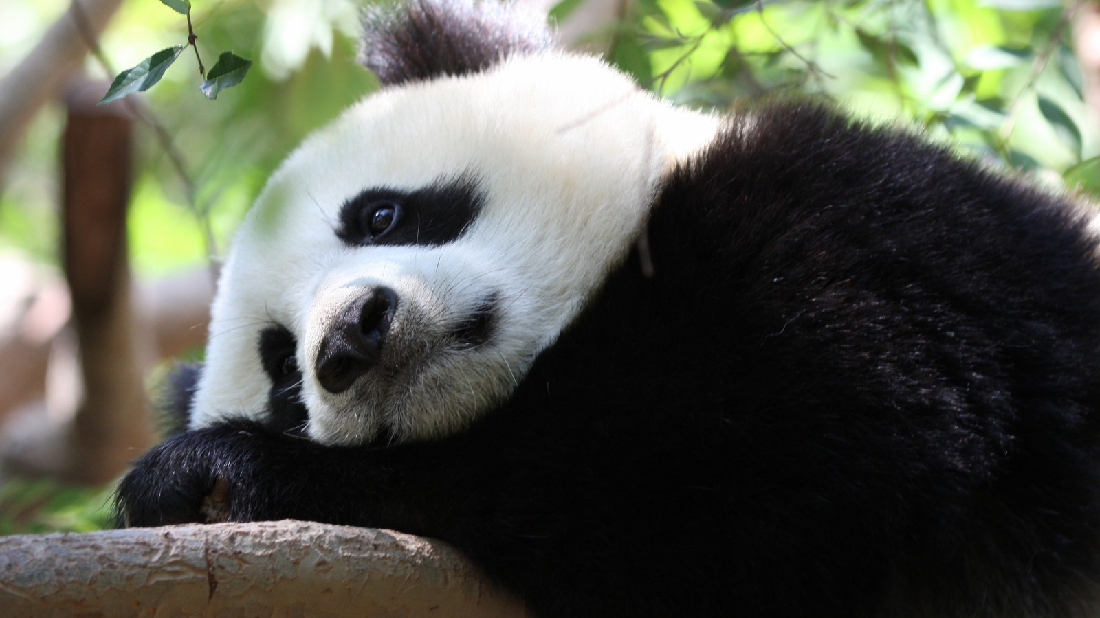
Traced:
<path fill-rule="evenodd" d="M 152 442 L 130 299 L 127 207 L 132 122 L 97 107 L 106 85 L 69 96 L 63 144 L 63 264 L 79 341 L 84 399 L 70 435 L 67 474 L 103 483 Z"/>

